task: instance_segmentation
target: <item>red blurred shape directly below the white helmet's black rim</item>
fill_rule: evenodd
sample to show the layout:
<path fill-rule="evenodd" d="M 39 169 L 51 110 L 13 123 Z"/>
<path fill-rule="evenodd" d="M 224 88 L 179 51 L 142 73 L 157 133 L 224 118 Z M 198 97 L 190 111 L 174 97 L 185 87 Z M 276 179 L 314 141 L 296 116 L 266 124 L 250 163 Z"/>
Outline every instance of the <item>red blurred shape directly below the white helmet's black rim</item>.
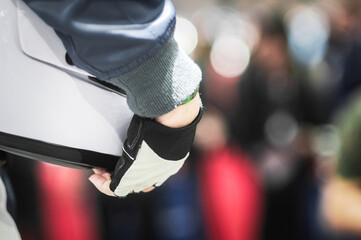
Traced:
<path fill-rule="evenodd" d="M 37 173 L 44 239 L 98 240 L 85 171 L 40 163 Z"/>

